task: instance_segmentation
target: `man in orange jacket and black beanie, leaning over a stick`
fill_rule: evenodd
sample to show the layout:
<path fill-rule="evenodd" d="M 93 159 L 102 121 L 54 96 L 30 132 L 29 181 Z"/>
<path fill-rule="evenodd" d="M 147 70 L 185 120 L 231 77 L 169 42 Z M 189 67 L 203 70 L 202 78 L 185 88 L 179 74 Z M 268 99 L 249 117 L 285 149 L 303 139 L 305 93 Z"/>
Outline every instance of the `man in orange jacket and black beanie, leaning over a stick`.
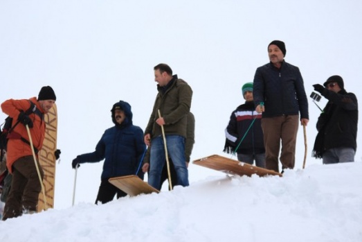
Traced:
<path fill-rule="evenodd" d="M 12 118 L 13 127 L 8 136 L 6 160 L 6 166 L 12 173 L 12 184 L 3 211 L 3 221 L 37 211 L 42 185 L 39 182 L 26 126 L 30 129 L 33 147 L 37 153 L 43 146 L 45 136 L 44 114 L 53 107 L 55 100 L 53 89 L 46 86 L 42 87 L 38 98 L 9 99 L 1 104 L 3 112 Z M 19 125 L 16 125 L 17 123 Z M 43 179 L 44 173 L 38 159 L 37 164 L 39 175 Z"/>

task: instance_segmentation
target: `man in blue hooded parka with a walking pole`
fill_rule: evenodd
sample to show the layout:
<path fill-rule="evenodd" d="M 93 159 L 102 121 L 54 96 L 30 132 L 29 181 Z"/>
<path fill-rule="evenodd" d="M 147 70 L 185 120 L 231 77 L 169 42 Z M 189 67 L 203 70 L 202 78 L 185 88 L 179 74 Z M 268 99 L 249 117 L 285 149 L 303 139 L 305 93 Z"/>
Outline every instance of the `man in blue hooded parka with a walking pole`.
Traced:
<path fill-rule="evenodd" d="M 143 130 L 132 123 L 131 105 L 119 101 L 113 105 L 111 113 L 115 126 L 105 130 L 96 150 L 78 155 L 72 162 L 72 167 L 75 168 L 80 163 L 100 162 L 105 159 L 96 204 L 110 202 L 116 194 L 117 198 L 127 195 L 109 183 L 109 178 L 136 174 L 143 179 L 140 166 L 146 146 L 143 142 Z"/>

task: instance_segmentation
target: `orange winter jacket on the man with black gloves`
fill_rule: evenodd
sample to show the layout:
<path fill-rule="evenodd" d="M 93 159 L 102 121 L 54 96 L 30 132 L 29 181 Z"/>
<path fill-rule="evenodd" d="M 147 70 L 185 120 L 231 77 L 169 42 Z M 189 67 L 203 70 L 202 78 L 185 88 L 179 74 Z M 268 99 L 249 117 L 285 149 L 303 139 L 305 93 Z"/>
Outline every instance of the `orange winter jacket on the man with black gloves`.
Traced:
<path fill-rule="evenodd" d="M 30 98 L 37 108 L 42 112 L 42 116 L 44 117 L 44 110 L 40 106 L 36 97 Z M 18 116 L 21 111 L 26 111 L 30 107 L 30 102 L 28 99 L 14 100 L 9 99 L 3 103 L 1 103 L 1 110 L 4 113 L 8 114 L 12 118 L 12 126 L 17 123 Z M 30 135 L 33 141 L 33 146 L 40 150 L 43 146 L 44 136 L 45 136 L 45 122 L 44 118 L 41 118 L 35 113 L 29 114 L 30 119 L 33 121 L 33 128 L 30 128 Z M 21 137 L 29 141 L 28 131 L 26 127 L 22 123 L 18 123 L 18 125 L 12 130 L 13 132 L 17 132 Z M 26 144 L 21 139 L 12 139 L 8 140 L 7 153 L 6 153 L 6 166 L 10 173 L 12 173 L 12 164 L 14 164 L 17 159 L 20 157 L 33 155 L 31 147 L 29 144 Z"/>

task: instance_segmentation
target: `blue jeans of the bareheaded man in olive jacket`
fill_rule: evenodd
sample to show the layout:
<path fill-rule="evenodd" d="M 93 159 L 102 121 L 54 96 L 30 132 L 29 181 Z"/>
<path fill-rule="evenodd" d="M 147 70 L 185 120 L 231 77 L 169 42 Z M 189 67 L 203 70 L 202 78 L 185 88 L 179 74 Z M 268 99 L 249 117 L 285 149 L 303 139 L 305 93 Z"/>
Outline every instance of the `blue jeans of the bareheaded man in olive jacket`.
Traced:
<path fill-rule="evenodd" d="M 185 158 L 185 138 L 180 135 L 166 135 L 168 156 L 171 157 L 177 174 L 177 184 L 182 187 L 188 186 L 188 168 Z M 161 173 L 165 166 L 165 145 L 161 136 L 152 139 L 150 171 L 148 173 L 148 184 L 155 189 L 161 189 Z"/>

